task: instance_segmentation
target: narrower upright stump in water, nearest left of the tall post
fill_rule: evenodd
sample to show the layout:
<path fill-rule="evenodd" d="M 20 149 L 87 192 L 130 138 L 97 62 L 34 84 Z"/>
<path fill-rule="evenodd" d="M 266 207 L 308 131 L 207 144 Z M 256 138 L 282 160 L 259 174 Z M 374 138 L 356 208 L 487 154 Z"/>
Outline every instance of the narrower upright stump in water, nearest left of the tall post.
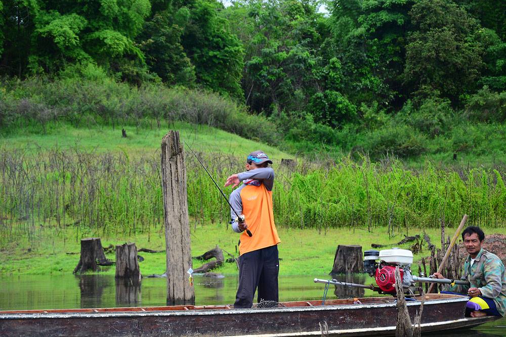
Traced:
<path fill-rule="evenodd" d="M 141 282 L 141 277 L 135 243 L 116 246 L 116 279 L 137 285 Z"/>

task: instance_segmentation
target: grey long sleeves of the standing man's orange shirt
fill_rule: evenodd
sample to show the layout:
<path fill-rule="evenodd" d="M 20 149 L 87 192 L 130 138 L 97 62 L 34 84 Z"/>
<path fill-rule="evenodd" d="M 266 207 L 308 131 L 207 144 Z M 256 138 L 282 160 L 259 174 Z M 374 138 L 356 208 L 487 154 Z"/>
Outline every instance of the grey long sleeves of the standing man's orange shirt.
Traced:
<path fill-rule="evenodd" d="M 260 183 L 264 184 L 265 188 L 269 191 L 272 190 L 272 187 L 274 185 L 274 170 L 271 167 L 258 168 L 255 170 L 241 172 L 238 174 L 238 176 L 239 180 L 241 181 L 248 179 L 258 180 Z M 230 205 L 232 205 L 232 208 L 230 209 L 232 229 L 237 233 L 240 233 L 241 230 L 239 229 L 238 222 L 235 220 L 237 218 L 235 212 L 237 212 L 238 215 L 242 214 L 241 189 L 244 188 L 244 186 L 246 186 L 246 184 L 242 183 L 238 188 L 234 189 L 229 198 Z"/>

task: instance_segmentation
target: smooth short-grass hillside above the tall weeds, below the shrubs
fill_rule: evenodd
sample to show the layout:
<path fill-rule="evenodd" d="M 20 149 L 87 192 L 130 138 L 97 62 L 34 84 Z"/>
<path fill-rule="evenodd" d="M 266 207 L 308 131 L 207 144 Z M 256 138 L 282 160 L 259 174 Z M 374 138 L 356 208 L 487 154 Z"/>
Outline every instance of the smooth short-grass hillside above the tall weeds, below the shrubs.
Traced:
<path fill-rule="evenodd" d="M 5 150 L 23 149 L 48 151 L 76 149 L 96 153 L 124 153 L 140 157 L 159 153 L 161 139 L 168 130 L 180 132 L 182 140 L 195 152 L 232 155 L 244 160 L 248 153 L 255 150 L 265 151 L 275 162 L 281 158 L 293 158 L 275 147 L 261 142 L 245 139 L 236 134 L 206 125 L 194 125 L 187 122 L 174 122 L 157 127 L 156 122 L 146 123 L 141 127 L 124 126 L 126 138 L 121 136 L 121 127 L 93 125 L 90 127 L 73 127 L 68 123 L 51 123 L 46 133 L 37 125 L 16 129 L 0 137 L 0 148 Z M 191 153 L 188 152 L 190 155 Z"/>

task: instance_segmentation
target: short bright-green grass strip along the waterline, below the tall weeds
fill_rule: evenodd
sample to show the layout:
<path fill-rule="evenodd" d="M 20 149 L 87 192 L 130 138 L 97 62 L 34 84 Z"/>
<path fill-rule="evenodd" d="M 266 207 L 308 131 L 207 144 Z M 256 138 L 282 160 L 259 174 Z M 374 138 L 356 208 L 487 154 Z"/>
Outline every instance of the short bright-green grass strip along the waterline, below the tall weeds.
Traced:
<path fill-rule="evenodd" d="M 335 250 L 338 245 L 361 245 L 363 251 L 370 249 L 372 243 L 384 244 L 388 247 L 400 247 L 409 249 L 413 243 L 407 243 L 401 246 L 395 243 L 404 238 L 404 234 L 421 234 L 421 228 L 412 227 L 407 232 L 396 232 L 389 238 L 388 227 L 376 227 L 372 231 L 367 231 L 365 225 L 354 228 L 331 228 L 326 232 L 319 232 L 317 229 L 294 229 L 278 226 L 278 232 L 281 238 L 279 245 L 279 257 L 281 275 L 323 275 L 332 270 Z M 454 228 L 447 228 L 446 234 L 453 235 Z M 499 228 L 484 227 L 487 234 L 506 233 L 506 230 Z M 426 233 L 431 238 L 432 243 L 440 247 L 440 230 L 438 228 L 426 228 Z M 27 235 L 18 238 L 2 248 L 2 258 L 0 259 L 0 275 L 24 275 L 24 274 L 71 274 L 77 262 L 79 261 L 81 236 L 76 236 L 75 228 L 69 227 L 65 230 L 57 230 L 52 226 L 38 226 L 33 236 L 36 240 L 31 240 Z M 88 232 L 83 237 L 93 236 L 93 232 Z M 238 256 L 236 245 L 239 234 L 233 232 L 227 224 L 205 223 L 203 226 L 197 226 L 191 229 L 191 249 L 192 256 L 198 256 L 216 245 L 224 251 Z M 135 235 L 117 235 L 102 236 L 102 245 L 120 245 L 125 242 L 135 242 L 138 249 L 148 248 L 153 250 L 164 250 L 165 240 L 162 229 L 148 235 L 147 233 L 138 233 Z M 417 263 L 421 257 L 430 256 L 427 245 L 423 245 L 423 250 L 415 254 L 413 270 L 417 272 Z M 139 253 L 144 257 L 144 261 L 139 263 L 141 273 L 144 276 L 150 274 L 161 274 L 165 271 L 165 253 Z M 114 253 L 106 255 L 107 258 L 114 260 Z M 225 258 L 230 256 L 224 253 Z M 193 259 L 193 266 L 199 267 L 203 261 Z M 223 266 L 214 270 L 214 272 L 227 275 L 237 274 L 235 263 L 224 263 Z M 102 267 L 103 274 L 114 274 L 114 266 Z"/>

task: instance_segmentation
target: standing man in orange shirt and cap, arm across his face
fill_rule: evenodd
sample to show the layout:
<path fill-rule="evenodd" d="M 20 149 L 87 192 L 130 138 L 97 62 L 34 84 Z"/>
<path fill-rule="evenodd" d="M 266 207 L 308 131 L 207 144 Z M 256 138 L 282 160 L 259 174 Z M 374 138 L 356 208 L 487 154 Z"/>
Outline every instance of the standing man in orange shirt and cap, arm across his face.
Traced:
<path fill-rule="evenodd" d="M 257 302 L 278 302 L 279 236 L 272 211 L 274 170 L 262 151 L 249 154 L 246 172 L 227 178 L 225 186 L 239 186 L 230 194 L 232 228 L 241 233 L 239 246 L 239 288 L 234 308 L 251 308 L 258 287 Z M 234 212 L 235 211 L 235 212 Z M 235 214 L 244 215 L 239 222 Z M 249 229 L 251 237 L 245 230 Z"/>

